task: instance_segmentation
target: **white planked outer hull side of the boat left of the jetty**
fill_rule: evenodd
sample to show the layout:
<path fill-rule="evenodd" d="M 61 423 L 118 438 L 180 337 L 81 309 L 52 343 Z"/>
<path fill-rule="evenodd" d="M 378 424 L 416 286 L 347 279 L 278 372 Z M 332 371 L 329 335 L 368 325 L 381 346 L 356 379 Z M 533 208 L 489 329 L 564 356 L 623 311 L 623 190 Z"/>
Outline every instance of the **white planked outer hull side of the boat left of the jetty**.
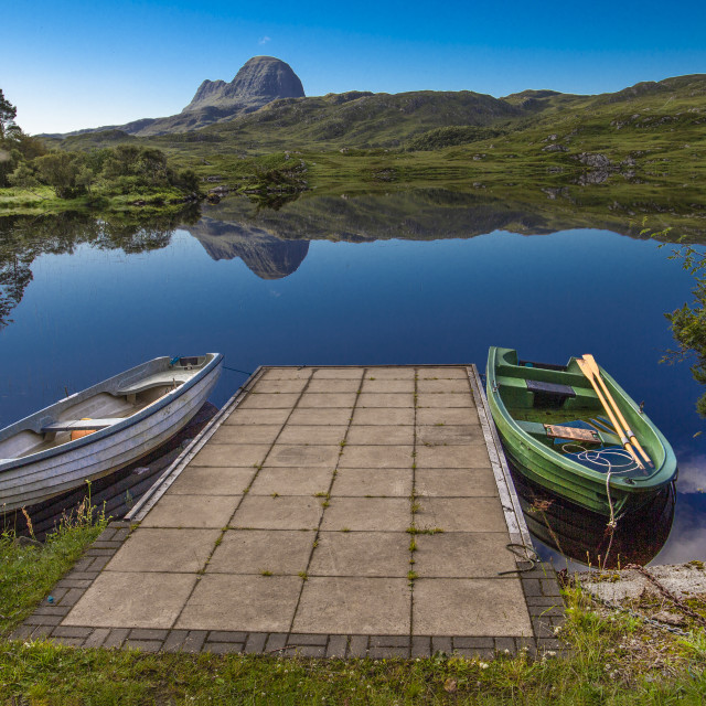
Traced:
<path fill-rule="evenodd" d="M 223 357 L 202 375 L 176 388 L 154 405 L 79 441 L 0 466 L 0 510 L 15 510 L 58 495 L 86 481 L 111 473 L 147 456 L 182 429 L 199 411 L 221 375 Z"/>

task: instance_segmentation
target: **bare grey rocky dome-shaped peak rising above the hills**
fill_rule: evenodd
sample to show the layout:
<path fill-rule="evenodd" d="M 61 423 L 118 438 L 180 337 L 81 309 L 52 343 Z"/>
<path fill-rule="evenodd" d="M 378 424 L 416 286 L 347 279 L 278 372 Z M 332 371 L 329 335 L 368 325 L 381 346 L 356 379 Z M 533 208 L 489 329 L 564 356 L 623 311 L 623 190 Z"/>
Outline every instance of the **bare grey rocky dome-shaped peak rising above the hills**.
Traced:
<path fill-rule="evenodd" d="M 289 64 L 275 56 L 254 56 L 231 83 L 204 81 L 182 114 L 204 108 L 256 110 L 277 98 L 303 96 L 301 81 Z"/>

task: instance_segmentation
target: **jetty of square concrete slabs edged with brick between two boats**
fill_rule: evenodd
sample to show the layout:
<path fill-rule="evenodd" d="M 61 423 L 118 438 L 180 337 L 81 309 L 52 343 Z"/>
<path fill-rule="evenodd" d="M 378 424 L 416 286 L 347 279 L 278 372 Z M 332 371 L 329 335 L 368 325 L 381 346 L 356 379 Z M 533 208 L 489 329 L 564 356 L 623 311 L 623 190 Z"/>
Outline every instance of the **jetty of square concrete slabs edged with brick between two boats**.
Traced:
<path fill-rule="evenodd" d="M 556 650 L 558 586 L 524 547 L 473 365 L 261 367 L 15 637 L 336 657 Z"/>

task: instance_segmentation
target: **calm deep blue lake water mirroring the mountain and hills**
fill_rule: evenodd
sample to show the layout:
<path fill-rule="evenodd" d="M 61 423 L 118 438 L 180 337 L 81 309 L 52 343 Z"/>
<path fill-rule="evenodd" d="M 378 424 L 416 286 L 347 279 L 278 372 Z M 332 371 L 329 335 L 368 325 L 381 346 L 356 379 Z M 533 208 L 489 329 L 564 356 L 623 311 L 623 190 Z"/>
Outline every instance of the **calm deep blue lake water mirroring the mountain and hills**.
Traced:
<path fill-rule="evenodd" d="M 548 233 L 496 204 L 415 197 L 307 199 L 259 213 L 229 200 L 173 231 L 72 222 L 56 226 L 52 253 L 18 240 L 0 280 L 12 320 L 0 330 L 0 427 L 65 387 L 158 355 L 220 351 L 242 371 L 484 370 L 493 344 L 558 363 L 591 352 L 645 400 L 680 460 L 673 528 L 656 560 L 706 558 L 706 446 L 694 437 L 702 391 L 687 364 L 659 363 L 673 345 L 664 312 L 691 300 L 694 285 L 671 248 L 600 229 Z M 6 239 L 12 227 L 34 226 L 7 222 Z M 212 402 L 244 379 L 224 372 Z"/>

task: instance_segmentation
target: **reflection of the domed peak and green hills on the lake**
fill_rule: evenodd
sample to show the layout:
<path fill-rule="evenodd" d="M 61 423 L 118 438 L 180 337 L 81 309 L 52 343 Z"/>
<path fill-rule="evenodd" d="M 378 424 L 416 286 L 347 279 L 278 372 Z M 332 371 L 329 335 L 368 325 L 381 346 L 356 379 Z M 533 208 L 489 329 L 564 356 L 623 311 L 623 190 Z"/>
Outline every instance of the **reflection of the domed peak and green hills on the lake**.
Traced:
<path fill-rule="evenodd" d="M 527 196 L 530 196 L 527 194 Z M 693 216 L 693 204 L 684 206 Z M 439 240 L 471 238 L 494 231 L 548 235 L 575 228 L 600 228 L 630 237 L 641 234 L 646 216 L 659 229 L 678 225 L 681 207 L 671 203 L 580 204 L 561 190 L 545 189 L 532 197 L 505 200 L 483 190 L 459 192 L 417 189 L 394 193 L 303 196 L 264 207 L 245 196 L 229 196 L 204 206 L 199 223 L 186 226 L 213 259 L 239 257 L 263 279 L 295 272 L 309 240 Z M 706 228 L 698 221 L 674 228 L 675 237 L 699 242 Z"/>

